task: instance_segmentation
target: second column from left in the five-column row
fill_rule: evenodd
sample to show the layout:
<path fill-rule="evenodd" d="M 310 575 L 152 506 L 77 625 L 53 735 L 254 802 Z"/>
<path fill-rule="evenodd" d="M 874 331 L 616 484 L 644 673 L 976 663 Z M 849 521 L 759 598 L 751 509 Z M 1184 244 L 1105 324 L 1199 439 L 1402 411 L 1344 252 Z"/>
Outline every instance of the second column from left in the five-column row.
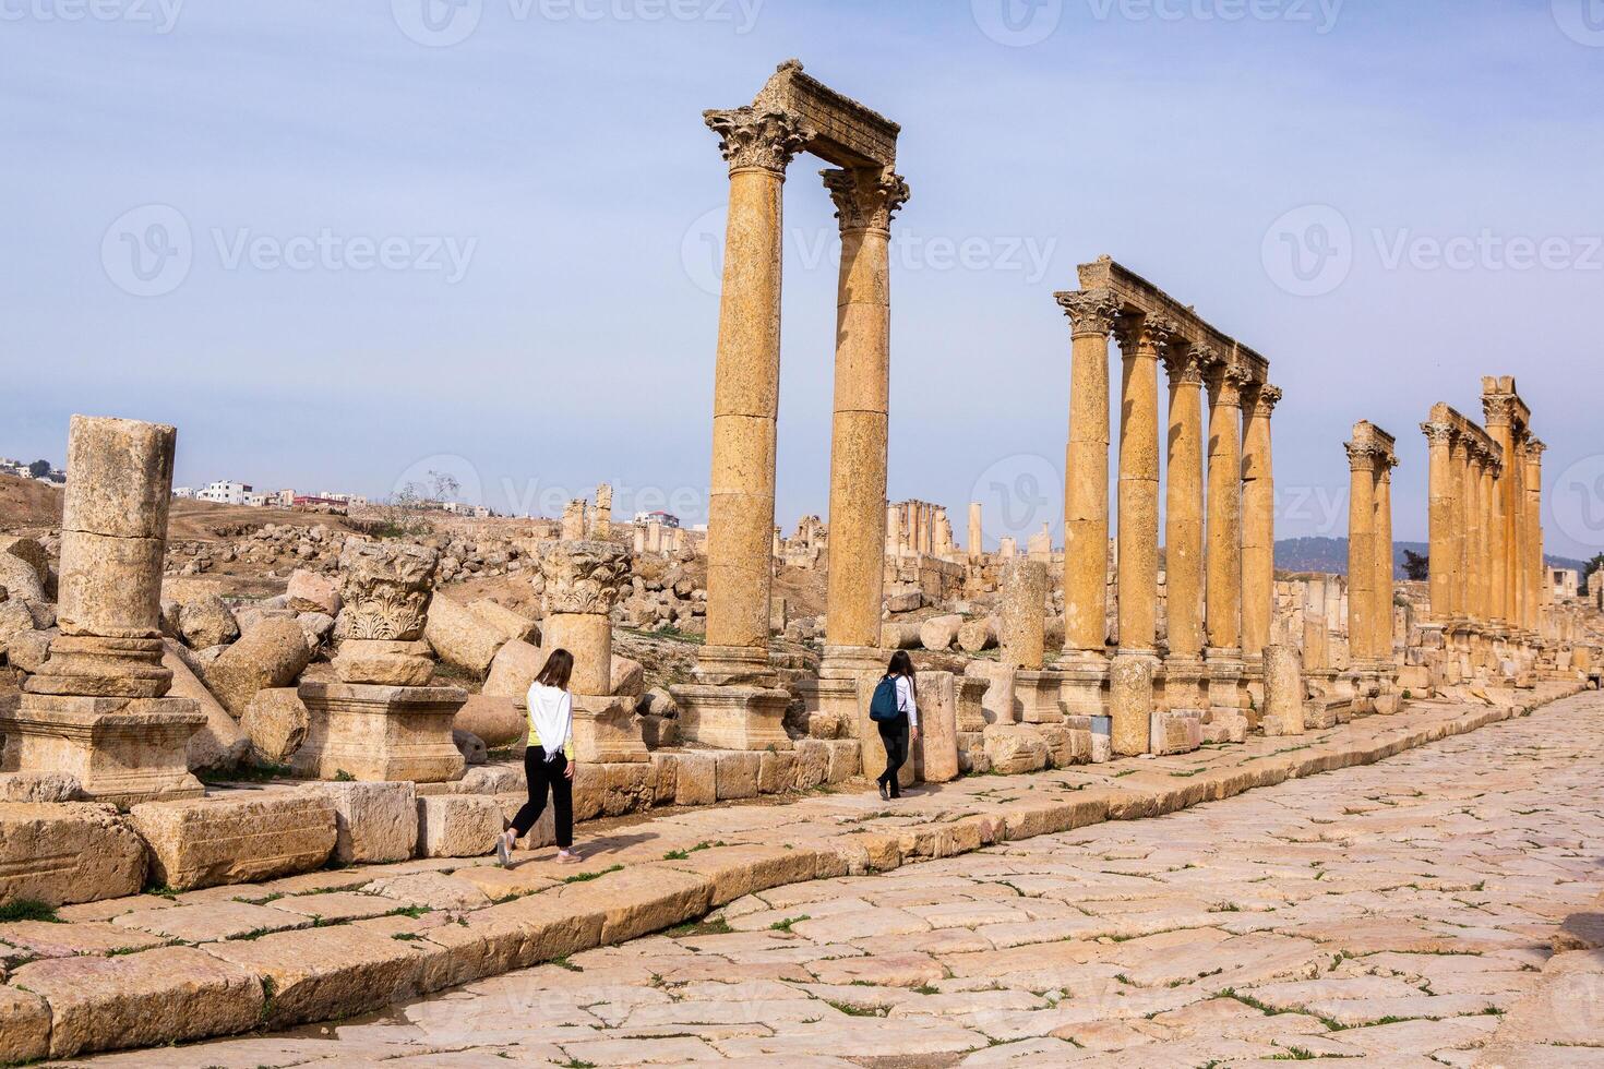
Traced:
<path fill-rule="evenodd" d="M 1158 644 L 1158 361 L 1174 324 L 1152 316 L 1118 332 L 1120 389 L 1120 651 L 1156 656 Z"/>

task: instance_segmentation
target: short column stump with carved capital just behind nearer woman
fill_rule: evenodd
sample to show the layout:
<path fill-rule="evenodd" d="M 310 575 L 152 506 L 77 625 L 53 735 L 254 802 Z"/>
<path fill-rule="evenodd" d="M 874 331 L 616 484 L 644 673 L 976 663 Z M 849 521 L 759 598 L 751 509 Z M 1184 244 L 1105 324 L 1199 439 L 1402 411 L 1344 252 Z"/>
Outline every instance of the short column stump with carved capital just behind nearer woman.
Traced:
<path fill-rule="evenodd" d="M 582 763 L 650 761 L 632 723 L 634 707 L 613 694 L 613 606 L 629 585 L 634 561 L 613 542 L 545 542 L 545 649 L 574 656 L 568 683 L 574 694 L 574 760 Z"/>

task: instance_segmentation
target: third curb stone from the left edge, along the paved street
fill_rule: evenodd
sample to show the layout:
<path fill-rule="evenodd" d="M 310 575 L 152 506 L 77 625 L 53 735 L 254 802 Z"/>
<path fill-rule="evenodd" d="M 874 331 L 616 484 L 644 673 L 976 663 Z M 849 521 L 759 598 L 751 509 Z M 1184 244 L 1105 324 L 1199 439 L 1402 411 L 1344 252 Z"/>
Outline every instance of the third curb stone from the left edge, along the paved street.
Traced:
<path fill-rule="evenodd" d="M 279 931 L 207 946 L 220 962 L 271 984 L 261 1024 L 287 1027 L 377 1010 L 415 994 L 423 954 L 359 925 Z"/>

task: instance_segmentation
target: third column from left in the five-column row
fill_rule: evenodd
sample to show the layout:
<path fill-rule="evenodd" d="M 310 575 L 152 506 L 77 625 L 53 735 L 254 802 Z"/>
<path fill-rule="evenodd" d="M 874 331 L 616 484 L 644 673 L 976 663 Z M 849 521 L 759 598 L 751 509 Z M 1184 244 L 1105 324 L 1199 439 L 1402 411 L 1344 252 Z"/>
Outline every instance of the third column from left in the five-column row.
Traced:
<path fill-rule="evenodd" d="M 1169 463 L 1165 574 L 1169 601 L 1169 708 L 1203 707 L 1203 365 L 1205 346 L 1174 348 L 1169 372 Z"/>

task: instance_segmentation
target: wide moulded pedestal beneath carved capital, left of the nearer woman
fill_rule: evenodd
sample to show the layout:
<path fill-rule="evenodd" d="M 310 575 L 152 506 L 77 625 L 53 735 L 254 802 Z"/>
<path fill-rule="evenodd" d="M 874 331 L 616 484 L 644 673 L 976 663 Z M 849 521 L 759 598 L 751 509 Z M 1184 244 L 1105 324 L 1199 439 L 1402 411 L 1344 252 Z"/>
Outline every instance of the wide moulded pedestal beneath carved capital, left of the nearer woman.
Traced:
<path fill-rule="evenodd" d="M 462 777 L 452 720 L 468 700 L 444 686 L 302 683 L 311 715 L 306 742 L 290 761 L 297 776 L 361 782 L 441 784 Z"/>

